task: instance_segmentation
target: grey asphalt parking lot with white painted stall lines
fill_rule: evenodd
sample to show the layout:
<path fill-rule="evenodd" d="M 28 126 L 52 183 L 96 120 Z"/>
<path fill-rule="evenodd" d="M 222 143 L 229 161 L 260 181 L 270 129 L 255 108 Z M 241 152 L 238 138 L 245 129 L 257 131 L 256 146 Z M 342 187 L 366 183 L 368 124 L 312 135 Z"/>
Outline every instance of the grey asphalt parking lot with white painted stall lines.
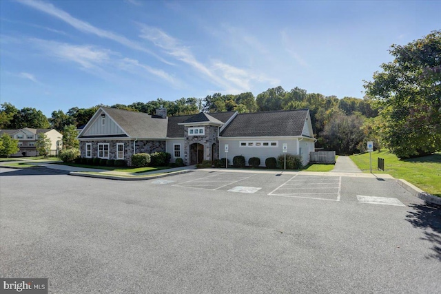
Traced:
<path fill-rule="evenodd" d="M 441 212 L 394 180 L 0 168 L 0 276 L 49 293 L 439 293 Z"/>

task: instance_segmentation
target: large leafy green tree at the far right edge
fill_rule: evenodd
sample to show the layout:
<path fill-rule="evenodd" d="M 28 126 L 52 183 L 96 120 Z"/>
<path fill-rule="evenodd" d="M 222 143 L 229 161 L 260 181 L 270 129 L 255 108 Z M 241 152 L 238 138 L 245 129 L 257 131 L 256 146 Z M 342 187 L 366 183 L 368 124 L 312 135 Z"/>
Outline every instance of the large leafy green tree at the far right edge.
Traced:
<path fill-rule="evenodd" d="M 441 31 L 392 45 L 393 61 L 365 81 L 382 107 L 382 141 L 400 158 L 441 151 Z"/>

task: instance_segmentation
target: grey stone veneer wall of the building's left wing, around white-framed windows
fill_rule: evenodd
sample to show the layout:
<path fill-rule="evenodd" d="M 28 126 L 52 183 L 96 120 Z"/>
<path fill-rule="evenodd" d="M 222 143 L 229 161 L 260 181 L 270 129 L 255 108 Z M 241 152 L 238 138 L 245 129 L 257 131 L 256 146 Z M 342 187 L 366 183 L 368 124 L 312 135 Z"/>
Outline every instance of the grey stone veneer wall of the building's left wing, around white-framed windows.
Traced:
<path fill-rule="evenodd" d="M 92 158 L 98 157 L 98 144 L 109 143 L 109 159 L 116 160 L 116 143 L 124 143 L 124 160 L 127 165 L 132 165 L 133 140 L 90 140 L 80 141 L 81 157 L 85 157 L 85 145 L 92 143 Z M 137 140 L 135 143 L 136 153 L 165 152 L 165 141 L 163 140 Z"/>

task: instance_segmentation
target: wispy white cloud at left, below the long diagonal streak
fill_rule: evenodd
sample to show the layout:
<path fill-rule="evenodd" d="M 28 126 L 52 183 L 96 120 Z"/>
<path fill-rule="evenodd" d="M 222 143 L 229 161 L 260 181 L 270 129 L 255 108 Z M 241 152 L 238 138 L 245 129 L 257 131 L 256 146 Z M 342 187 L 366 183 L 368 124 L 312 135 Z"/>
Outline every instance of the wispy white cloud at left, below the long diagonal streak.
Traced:
<path fill-rule="evenodd" d="M 42 39 L 31 39 L 45 54 L 57 57 L 64 61 L 71 61 L 81 66 L 83 70 L 98 76 L 108 76 L 110 69 L 119 69 L 132 74 L 137 74 L 135 69 L 142 69 L 150 76 L 156 76 L 161 80 L 170 83 L 174 87 L 180 87 L 181 81 L 170 76 L 167 72 L 143 65 L 135 59 L 121 57 L 121 54 L 112 50 L 105 50 L 92 45 L 72 45 L 57 41 L 46 41 Z"/>

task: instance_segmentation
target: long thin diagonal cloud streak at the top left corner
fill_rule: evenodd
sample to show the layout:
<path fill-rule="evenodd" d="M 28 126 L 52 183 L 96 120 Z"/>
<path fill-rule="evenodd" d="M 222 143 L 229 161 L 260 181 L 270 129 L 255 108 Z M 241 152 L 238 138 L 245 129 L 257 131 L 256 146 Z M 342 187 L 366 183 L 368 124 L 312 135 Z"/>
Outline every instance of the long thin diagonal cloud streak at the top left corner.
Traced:
<path fill-rule="evenodd" d="M 81 19 L 76 19 L 75 17 L 72 17 L 72 15 L 68 14 L 68 12 L 65 12 L 64 10 L 61 10 L 61 9 L 53 6 L 51 3 L 46 3 L 43 1 L 25 1 L 25 0 L 17 0 L 17 1 L 19 3 L 22 3 L 25 6 L 29 6 L 30 8 L 34 8 L 34 9 L 39 10 L 41 12 L 45 12 L 46 14 L 49 14 L 52 17 L 56 17 L 57 19 L 61 19 L 61 21 L 64 21 L 65 23 L 72 25 L 72 27 L 76 28 L 76 30 L 79 30 L 81 32 L 85 32 L 88 34 L 94 34 L 94 35 L 99 36 L 103 39 L 110 39 L 112 41 L 120 43 L 121 45 L 125 45 L 128 48 L 132 48 L 134 50 L 139 50 L 139 51 L 151 54 L 152 56 L 155 56 L 158 60 L 163 61 L 164 63 L 167 63 L 169 65 L 172 65 L 172 63 L 170 63 L 169 61 L 166 61 L 161 56 L 158 56 L 157 54 L 155 54 L 151 50 L 148 50 L 147 48 L 143 47 L 139 43 L 136 43 L 135 41 L 127 39 L 125 36 L 115 34 L 114 32 L 110 32 L 108 30 L 102 30 L 100 28 L 96 28 L 94 25 L 91 25 L 90 23 L 88 23 L 86 21 L 82 21 Z"/>

